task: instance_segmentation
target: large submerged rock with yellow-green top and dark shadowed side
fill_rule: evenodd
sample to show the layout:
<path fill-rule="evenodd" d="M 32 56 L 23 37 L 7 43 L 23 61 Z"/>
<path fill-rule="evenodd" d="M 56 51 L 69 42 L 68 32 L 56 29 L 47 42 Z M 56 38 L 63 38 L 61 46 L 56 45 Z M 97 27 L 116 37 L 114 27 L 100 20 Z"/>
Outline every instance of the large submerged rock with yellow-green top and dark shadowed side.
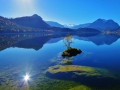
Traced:
<path fill-rule="evenodd" d="M 100 87 L 116 82 L 116 77 L 106 69 L 77 65 L 51 66 L 46 70 L 46 76 Z"/>

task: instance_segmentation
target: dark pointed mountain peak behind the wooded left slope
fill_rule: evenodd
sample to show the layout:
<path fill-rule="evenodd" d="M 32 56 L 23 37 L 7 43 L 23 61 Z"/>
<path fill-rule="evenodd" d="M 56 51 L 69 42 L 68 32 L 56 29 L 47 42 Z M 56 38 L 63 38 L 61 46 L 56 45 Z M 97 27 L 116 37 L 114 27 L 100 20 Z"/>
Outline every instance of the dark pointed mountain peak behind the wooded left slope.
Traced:
<path fill-rule="evenodd" d="M 32 28 L 40 28 L 40 29 L 49 29 L 51 26 L 49 26 L 47 23 L 45 23 L 40 16 L 37 14 L 34 14 L 32 16 L 25 16 L 25 17 L 19 17 L 10 19 L 10 21 L 26 26 L 26 27 L 32 27 Z"/>

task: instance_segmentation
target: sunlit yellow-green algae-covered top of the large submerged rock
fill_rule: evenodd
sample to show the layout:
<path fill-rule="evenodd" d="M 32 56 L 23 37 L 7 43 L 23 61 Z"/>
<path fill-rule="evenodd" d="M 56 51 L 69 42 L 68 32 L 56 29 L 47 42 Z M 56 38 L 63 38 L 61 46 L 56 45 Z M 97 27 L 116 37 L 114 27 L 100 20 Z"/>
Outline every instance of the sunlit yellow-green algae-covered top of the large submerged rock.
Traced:
<path fill-rule="evenodd" d="M 66 73 L 71 72 L 73 75 L 84 75 L 84 76 L 96 76 L 96 77 L 111 77 L 115 78 L 115 76 L 107 71 L 106 69 L 99 69 L 87 66 L 77 66 L 77 65 L 56 65 L 51 66 L 46 70 L 46 73 L 49 74 L 57 74 L 57 73 Z"/>

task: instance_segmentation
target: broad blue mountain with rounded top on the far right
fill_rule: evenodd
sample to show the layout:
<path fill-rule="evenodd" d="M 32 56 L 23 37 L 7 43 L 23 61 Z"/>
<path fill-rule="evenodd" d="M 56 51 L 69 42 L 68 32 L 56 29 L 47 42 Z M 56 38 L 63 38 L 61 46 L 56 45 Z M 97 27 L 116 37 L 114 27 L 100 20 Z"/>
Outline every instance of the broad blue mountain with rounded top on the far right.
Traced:
<path fill-rule="evenodd" d="M 93 23 L 91 23 L 88 28 L 94 28 L 98 30 L 114 30 L 118 28 L 118 23 L 113 20 L 105 20 L 105 19 L 97 19 Z"/>

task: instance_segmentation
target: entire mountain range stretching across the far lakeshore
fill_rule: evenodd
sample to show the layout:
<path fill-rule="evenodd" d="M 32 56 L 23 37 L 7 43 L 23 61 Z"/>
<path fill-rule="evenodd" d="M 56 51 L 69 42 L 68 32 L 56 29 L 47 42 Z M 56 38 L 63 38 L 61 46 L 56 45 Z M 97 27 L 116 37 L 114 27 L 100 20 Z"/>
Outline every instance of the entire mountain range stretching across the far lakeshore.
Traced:
<path fill-rule="evenodd" d="M 97 19 L 92 23 L 72 25 L 71 28 L 66 28 L 65 25 L 57 22 L 44 21 L 37 14 L 18 18 L 4 18 L 0 16 L 0 33 L 97 32 L 98 34 L 101 30 L 120 30 L 120 26 L 113 20 Z"/>

